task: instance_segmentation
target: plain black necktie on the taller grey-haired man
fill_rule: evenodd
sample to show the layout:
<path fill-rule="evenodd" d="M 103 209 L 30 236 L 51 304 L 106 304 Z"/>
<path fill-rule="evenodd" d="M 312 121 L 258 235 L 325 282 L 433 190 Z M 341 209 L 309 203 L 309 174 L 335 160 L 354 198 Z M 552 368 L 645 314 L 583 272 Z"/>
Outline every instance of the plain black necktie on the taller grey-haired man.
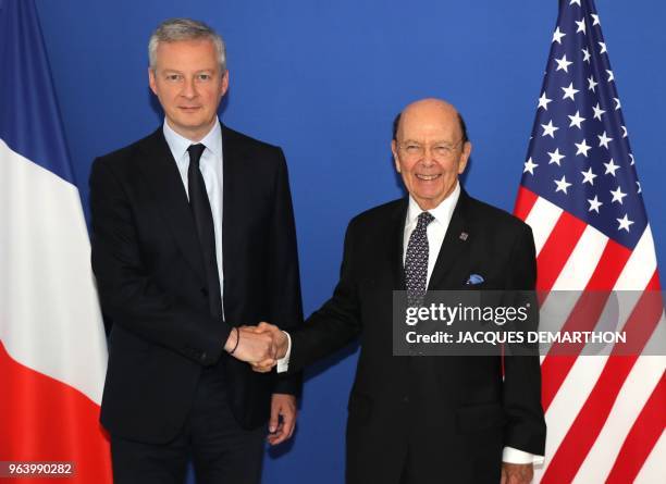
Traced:
<path fill-rule="evenodd" d="M 189 191 L 189 208 L 197 227 L 199 245 L 201 247 L 201 256 L 203 268 L 206 270 L 206 280 L 208 287 L 208 300 L 210 303 L 210 313 L 214 317 L 222 315 L 222 299 L 220 296 L 220 276 L 218 273 L 218 262 L 215 257 L 215 229 L 213 226 L 212 211 L 210 210 L 210 201 L 206 191 L 203 176 L 199 170 L 199 161 L 206 147 L 201 144 L 190 145 L 187 148 L 189 152 L 189 166 L 187 167 L 187 188 Z"/>

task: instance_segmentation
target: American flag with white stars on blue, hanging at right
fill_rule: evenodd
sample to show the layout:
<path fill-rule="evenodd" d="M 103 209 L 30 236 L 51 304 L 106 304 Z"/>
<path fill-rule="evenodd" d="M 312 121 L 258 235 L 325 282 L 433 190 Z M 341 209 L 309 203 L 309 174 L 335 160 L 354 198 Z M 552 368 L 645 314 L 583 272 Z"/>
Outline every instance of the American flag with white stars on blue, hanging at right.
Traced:
<path fill-rule="evenodd" d="M 592 0 L 560 1 L 515 213 L 534 233 L 538 289 L 639 291 L 622 328 L 663 337 L 661 298 L 648 297 L 659 290 L 654 243 Z M 542 357 L 535 481 L 666 483 L 665 369 L 665 356 Z"/>

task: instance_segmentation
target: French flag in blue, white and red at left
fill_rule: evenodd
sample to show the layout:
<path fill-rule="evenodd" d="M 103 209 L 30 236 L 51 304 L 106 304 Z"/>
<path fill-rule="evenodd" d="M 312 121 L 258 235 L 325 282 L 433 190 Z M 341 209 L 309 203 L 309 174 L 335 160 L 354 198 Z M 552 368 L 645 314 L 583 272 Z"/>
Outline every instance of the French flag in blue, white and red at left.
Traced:
<path fill-rule="evenodd" d="M 71 462 L 67 482 L 111 483 L 107 343 L 33 0 L 0 0 L 0 461 Z"/>

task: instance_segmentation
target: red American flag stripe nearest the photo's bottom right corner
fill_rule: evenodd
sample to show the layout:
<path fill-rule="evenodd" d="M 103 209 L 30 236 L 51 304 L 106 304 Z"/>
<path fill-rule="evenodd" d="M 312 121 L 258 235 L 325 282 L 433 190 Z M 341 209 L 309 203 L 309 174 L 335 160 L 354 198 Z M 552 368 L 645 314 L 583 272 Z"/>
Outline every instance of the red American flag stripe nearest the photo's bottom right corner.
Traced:
<path fill-rule="evenodd" d="M 608 474 L 606 484 L 633 482 L 666 427 L 666 373 L 652 392 Z"/>

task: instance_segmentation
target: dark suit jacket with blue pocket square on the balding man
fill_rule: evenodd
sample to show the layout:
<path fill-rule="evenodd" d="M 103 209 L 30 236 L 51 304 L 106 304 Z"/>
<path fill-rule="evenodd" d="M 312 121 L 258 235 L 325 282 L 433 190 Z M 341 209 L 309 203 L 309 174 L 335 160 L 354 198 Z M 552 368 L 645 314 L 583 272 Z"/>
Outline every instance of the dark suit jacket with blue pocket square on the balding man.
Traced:
<path fill-rule="evenodd" d="M 408 460 L 410 482 L 496 484 L 504 446 L 543 455 L 539 359 L 506 358 L 503 381 L 499 357 L 392 356 L 407 206 L 392 201 L 351 220 L 333 297 L 292 332 L 289 371 L 360 337 L 348 483 L 397 484 Z M 534 243 L 528 225 L 462 190 L 429 289 L 469 288 L 470 274 L 484 277 L 477 288 L 533 289 Z"/>

